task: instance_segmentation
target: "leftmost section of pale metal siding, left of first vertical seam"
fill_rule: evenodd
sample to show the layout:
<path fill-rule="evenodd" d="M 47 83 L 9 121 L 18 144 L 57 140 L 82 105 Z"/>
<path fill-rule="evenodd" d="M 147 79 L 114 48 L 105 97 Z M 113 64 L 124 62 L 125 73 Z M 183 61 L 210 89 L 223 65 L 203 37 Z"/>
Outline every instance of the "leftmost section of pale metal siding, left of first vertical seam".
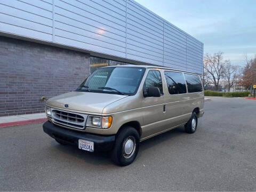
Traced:
<path fill-rule="evenodd" d="M 52 4 L 39 0 L 1 0 L 0 31 L 52 41 Z"/>

